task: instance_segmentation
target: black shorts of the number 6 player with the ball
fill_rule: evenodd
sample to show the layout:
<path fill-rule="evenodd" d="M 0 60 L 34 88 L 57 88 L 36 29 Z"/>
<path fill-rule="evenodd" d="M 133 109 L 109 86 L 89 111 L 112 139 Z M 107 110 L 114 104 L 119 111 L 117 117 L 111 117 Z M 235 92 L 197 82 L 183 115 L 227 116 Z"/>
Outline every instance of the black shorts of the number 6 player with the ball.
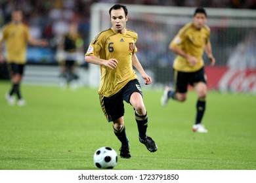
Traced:
<path fill-rule="evenodd" d="M 131 94 L 134 92 L 138 92 L 142 95 L 140 83 L 137 79 L 129 81 L 119 92 L 111 97 L 99 96 L 102 111 L 108 122 L 117 120 L 125 114 L 123 101 L 130 103 Z"/>

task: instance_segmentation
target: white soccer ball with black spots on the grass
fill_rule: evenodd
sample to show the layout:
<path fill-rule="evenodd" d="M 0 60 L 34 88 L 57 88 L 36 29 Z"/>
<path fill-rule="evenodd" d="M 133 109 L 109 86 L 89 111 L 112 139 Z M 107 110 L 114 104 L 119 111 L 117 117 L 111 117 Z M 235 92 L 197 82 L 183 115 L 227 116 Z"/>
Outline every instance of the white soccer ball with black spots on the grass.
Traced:
<path fill-rule="evenodd" d="M 117 165 L 116 151 L 110 147 L 101 147 L 96 150 L 93 161 L 99 169 L 113 169 Z"/>

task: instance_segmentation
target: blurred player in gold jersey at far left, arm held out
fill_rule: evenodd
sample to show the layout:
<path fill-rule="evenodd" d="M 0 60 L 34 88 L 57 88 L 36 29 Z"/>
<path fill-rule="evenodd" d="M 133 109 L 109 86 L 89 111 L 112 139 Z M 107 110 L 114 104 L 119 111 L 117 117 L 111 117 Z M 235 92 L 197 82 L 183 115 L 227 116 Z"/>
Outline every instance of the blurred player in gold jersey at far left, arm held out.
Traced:
<path fill-rule="evenodd" d="M 26 64 L 26 50 L 27 42 L 38 46 L 47 46 L 47 41 L 33 39 L 30 36 L 29 27 L 22 22 L 22 11 L 12 11 L 12 21 L 3 27 L 3 37 L 0 39 L 0 62 L 3 63 L 5 58 L 2 51 L 2 42 L 5 42 L 7 52 L 7 63 L 9 64 L 9 71 L 11 75 L 12 87 L 9 93 L 5 95 L 9 105 L 14 105 L 14 94 L 18 98 L 18 106 L 26 105 L 20 92 L 20 84 L 24 73 L 24 66 Z"/>

